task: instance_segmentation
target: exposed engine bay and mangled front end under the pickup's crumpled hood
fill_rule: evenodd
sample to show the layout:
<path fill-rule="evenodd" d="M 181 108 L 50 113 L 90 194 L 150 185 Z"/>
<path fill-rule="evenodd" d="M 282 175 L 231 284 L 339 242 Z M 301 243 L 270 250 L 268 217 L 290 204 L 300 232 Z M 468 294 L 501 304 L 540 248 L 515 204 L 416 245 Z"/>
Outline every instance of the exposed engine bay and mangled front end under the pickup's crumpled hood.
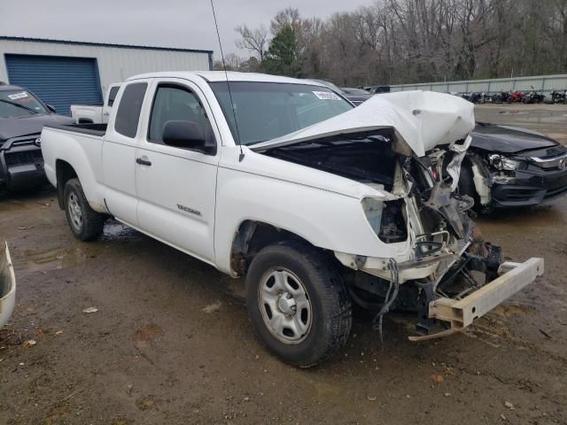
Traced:
<path fill-rule="evenodd" d="M 369 270 L 367 259 L 344 268 L 353 302 L 376 314 L 415 312 L 419 335 L 442 332 L 447 323 L 430 317 L 431 301 L 459 300 L 491 282 L 501 266 L 501 249 L 485 243 L 470 218 L 472 197 L 457 189 L 470 137 L 440 145 L 423 157 L 397 149 L 392 129 L 296 143 L 265 152 L 388 192 L 388 200 L 363 200 L 370 226 L 383 243 L 412 240 L 410 259 L 384 259 Z M 399 152 L 400 151 L 400 152 Z M 409 155 L 408 155 L 409 153 Z M 369 200 L 370 199 L 370 200 Z M 366 204 L 365 204 L 366 203 Z M 366 273 L 365 273 L 366 272 Z"/>

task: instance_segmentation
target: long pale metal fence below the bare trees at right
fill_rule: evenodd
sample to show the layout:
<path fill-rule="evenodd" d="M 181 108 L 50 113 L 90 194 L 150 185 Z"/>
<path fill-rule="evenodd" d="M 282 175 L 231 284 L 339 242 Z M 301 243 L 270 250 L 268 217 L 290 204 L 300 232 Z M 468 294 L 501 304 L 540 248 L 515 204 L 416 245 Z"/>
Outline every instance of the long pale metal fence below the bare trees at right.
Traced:
<path fill-rule="evenodd" d="M 553 89 L 567 89 L 567 74 L 536 75 L 532 77 L 497 78 L 493 80 L 441 81 L 390 86 L 391 91 L 431 90 L 442 93 L 470 93 L 471 91 L 498 92 L 501 90 L 543 90 L 548 95 Z"/>

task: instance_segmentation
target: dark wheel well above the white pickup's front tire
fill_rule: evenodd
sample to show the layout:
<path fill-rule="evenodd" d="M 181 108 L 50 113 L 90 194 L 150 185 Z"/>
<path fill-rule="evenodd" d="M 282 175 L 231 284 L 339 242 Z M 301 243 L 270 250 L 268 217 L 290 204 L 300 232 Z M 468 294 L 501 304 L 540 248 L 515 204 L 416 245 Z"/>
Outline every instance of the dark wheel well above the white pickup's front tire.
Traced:
<path fill-rule="evenodd" d="M 230 268 L 238 275 L 243 275 L 248 269 L 248 265 L 262 248 L 273 243 L 283 241 L 299 241 L 314 246 L 303 237 L 296 235 L 289 230 L 277 228 L 262 221 L 245 220 L 243 221 L 232 241 L 230 252 Z"/>

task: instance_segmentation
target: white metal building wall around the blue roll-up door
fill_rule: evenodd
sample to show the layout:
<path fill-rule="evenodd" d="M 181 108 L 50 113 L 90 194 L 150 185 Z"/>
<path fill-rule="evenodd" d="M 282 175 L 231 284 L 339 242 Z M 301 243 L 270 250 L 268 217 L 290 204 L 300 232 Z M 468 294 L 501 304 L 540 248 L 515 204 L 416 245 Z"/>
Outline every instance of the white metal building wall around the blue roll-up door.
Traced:
<path fill-rule="evenodd" d="M 206 51 L 126 48 L 6 37 L 0 38 L 0 81 L 9 81 L 4 60 L 6 53 L 96 58 L 103 93 L 113 82 L 124 81 L 136 73 L 210 69 L 209 53 Z"/>

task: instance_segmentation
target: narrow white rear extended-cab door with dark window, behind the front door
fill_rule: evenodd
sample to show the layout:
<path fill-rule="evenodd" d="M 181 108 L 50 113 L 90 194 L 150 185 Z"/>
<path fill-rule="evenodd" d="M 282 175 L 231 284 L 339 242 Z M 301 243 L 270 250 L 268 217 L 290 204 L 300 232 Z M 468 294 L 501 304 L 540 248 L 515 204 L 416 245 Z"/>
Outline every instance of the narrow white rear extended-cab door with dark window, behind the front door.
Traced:
<path fill-rule="evenodd" d="M 125 83 L 103 143 L 105 202 L 118 220 L 137 226 L 136 149 L 140 112 L 151 80 Z"/>

